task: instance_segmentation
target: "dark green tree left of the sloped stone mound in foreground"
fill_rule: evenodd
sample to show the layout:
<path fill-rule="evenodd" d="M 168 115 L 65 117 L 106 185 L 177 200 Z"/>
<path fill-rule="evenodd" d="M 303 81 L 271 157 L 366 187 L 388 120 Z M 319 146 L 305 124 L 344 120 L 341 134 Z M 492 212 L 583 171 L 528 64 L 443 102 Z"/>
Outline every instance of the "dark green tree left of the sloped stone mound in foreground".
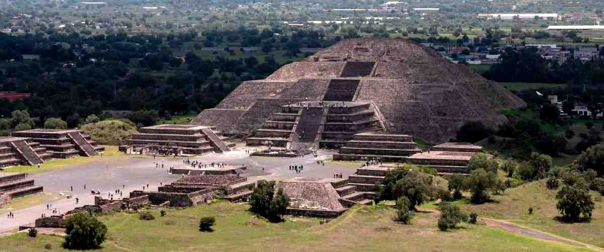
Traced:
<path fill-rule="evenodd" d="M 280 189 L 275 196 L 275 181 L 260 180 L 249 197 L 249 210 L 269 221 L 281 221 L 289 206 L 289 198 Z"/>

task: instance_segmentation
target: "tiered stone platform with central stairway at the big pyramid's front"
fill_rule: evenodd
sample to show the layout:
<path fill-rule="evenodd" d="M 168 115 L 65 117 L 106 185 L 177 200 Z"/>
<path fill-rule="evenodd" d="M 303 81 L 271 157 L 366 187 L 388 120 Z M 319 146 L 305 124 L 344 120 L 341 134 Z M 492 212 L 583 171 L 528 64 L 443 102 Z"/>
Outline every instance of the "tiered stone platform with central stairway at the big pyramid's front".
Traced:
<path fill-rule="evenodd" d="M 381 122 L 370 102 L 301 101 L 281 106 L 281 112 L 272 114 L 246 142 L 316 150 L 344 145 L 356 133 L 378 130 L 382 130 Z"/>

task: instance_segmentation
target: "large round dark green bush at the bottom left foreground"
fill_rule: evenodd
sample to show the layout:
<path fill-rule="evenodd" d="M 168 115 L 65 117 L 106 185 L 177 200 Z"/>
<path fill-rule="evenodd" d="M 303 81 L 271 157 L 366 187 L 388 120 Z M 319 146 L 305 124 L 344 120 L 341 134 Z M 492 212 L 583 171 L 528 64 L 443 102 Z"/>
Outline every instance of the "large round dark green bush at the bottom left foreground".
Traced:
<path fill-rule="evenodd" d="M 89 250 L 100 247 L 105 241 L 107 227 L 89 213 L 80 212 L 67 218 L 63 247 Z"/>

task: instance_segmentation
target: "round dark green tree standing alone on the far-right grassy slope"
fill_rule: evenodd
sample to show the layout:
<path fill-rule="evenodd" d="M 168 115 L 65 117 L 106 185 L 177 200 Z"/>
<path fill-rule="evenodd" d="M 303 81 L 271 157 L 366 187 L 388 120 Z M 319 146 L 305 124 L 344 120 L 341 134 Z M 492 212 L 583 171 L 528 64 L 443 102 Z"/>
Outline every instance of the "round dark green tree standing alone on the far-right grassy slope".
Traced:
<path fill-rule="evenodd" d="M 576 222 L 581 219 L 581 216 L 584 219 L 591 219 L 594 201 L 591 199 L 587 183 L 582 179 L 572 184 L 565 183 L 556 194 L 556 200 L 558 200 L 556 209 L 565 221 Z"/>

